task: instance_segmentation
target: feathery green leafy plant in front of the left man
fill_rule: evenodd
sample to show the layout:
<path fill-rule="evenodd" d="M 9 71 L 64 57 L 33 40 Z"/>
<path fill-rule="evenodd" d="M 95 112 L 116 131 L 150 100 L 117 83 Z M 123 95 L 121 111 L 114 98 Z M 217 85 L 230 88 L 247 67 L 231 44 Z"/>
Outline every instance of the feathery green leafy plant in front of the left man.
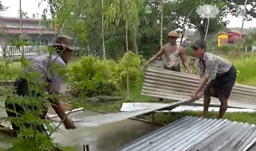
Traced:
<path fill-rule="evenodd" d="M 13 44 L 20 49 L 20 46 L 24 46 L 26 42 L 24 41 L 24 37 L 21 37 L 18 40 L 14 40 Z M 3 51 L 5 51 L 4 47 Z M 50 138 L 47 133 L 37 131 L 37 125 L 45 125 L 49 133 L 59 131 L 58 126 L 53 125 L 51 120 L 42 120 L 39 118 L 42 116 L 42 112 L 45 111 L 45 108 L 51 105 L 50 102 L 48 102 L 48 99 L 57 98 L 58 96 L 53 96 L 53 94 L 50 93 L 51 90 L 45 89 L 45 87 L 48 87 L 48 83 L 44 80 L 40 80 L 42 75 L 40 75 L 39 72 L 32 72 L 30 70 L 30 61 L 25 59 L 22 50 L 19 51 L 22 54 L 17 63 L 13 63 L 4 55 L 0 64 L 1 80 L 13 80 L 17 77 L 17 74 L 19 74 L 18 78 L 26 79 L 29 87 L 26 96 L 19 96 L 15 92 L 13 93 L 14 83 L 12 83 L 2 94 L 8 97 L 6 97 L 6 99 L 1 99 L 0 104 L 4 104 L 4 102 L 7 101 L 9 104 L 18 104 L 24 109 L 24 113 L 20 114 L 17 112 L 15 106 L 14 110 L 2 106 L 0 107 L 1 109 L 6 109 L 10 113 L 14 113 L 13 117 L 8 116 L 8 118 L 1 118 L 1 121 L 10 121 L 20 127 L 19 135 L 15 138 L 8 139 L 8 142 L 12 144 L 8 150 L 54 150 L 58 145 L 53 143 L 52 138 Z M 52 55 L 55 52 L 52 49 L 48 49 L 48 53 Z M 21 69 L 22 72 L 20 72 Z M 63 67 L 55 63 L 48 64 L 48 73 L 52 70 L 56 71 L 60 76 L 66 74 Z M 15 74 L 15 72 L 17 73 Z M 79 106 L 81 107 L 81 104 Z M 25 125 L 30 126 L 26 127 Z M 2 148 L 0 148 L 0 150 L 1 149 Z"/>

